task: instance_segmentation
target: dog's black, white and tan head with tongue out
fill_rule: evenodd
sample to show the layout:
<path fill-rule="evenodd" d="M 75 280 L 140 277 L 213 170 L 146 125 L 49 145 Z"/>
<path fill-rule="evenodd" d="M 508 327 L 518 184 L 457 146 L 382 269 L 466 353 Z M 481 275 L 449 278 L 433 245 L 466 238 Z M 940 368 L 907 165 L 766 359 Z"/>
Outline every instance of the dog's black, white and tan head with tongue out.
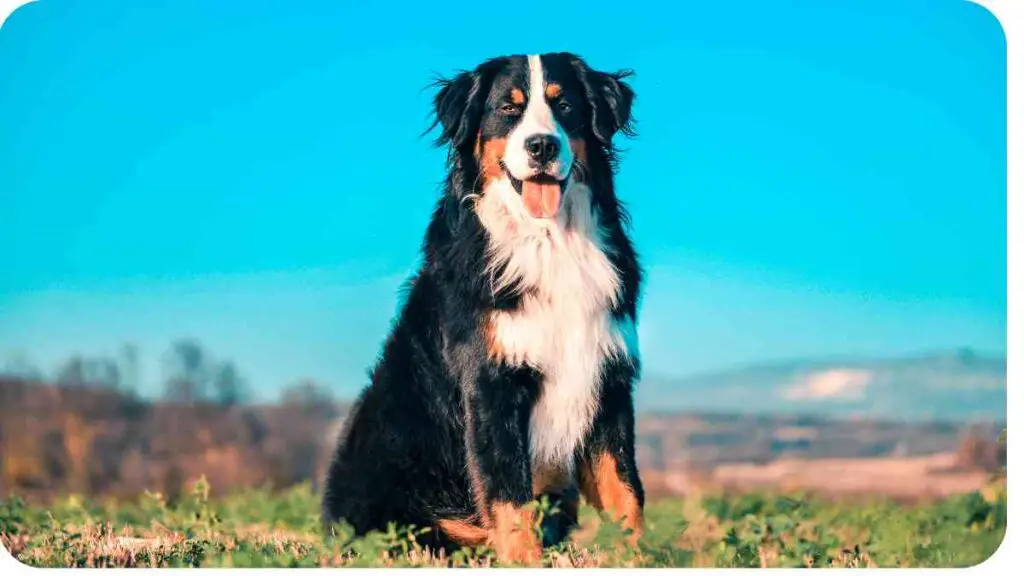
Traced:
<path fill-rule="evenodd" d="M 438 82 L 437 142 L 472 164 L 479 190 L 508 180 L 530 215 L 552 218 L 588 162 L 607 161 L 612 136 L 632 133 L 628 76 L 566 52 L 486 60 Z"/>

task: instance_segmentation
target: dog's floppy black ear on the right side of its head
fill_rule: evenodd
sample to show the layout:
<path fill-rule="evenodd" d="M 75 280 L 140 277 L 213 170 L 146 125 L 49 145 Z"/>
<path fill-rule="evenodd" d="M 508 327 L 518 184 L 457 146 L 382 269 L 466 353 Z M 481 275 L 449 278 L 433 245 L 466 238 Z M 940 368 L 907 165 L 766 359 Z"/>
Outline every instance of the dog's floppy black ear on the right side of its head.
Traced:
<path fill-rule="evenodd" d="M 571 61 L 590 105 L 591 129 L 597 139 L 610 147 L 611 137 L 616 132 L 621 131 L 628 136 L 636 135 L 633 126 L 635 94 L 633 88 L 626 83 L 633 72 L 599 72 L 587 66 L 583 58 L 574 57 Z"/>

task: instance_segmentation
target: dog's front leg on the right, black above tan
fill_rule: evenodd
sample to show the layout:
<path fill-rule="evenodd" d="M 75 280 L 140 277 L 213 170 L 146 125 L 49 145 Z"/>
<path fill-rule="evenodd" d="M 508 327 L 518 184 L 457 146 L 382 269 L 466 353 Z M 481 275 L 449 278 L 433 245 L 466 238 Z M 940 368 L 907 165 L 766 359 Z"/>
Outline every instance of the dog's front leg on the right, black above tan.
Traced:
<path fill-rule="evenodd" d="M 632 531 L 636 545 L 643 534 L 643 484 L 636 463 L 633 379 L 636 370 L 623 360 L 604 370 L 594 427 L 577 461 L 580 490 L 588 503 Z"/>

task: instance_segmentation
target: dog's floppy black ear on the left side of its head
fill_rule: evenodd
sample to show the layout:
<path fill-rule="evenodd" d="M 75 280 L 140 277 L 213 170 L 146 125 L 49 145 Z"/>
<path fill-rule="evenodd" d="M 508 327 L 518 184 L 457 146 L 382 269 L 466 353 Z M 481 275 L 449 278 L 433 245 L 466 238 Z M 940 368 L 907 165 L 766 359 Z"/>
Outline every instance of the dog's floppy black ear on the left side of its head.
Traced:
<path fill-rule="evenodd" d="M 460 148 L 480 122 L 481 100 L 486 96 L 484 75 L 479 70 L 465 71 L 438 79 L 433 86 L 439 88 L 434 94 L 434 121 L 424 134 L 439 125 L 441 133 L 434 143 Z"/>

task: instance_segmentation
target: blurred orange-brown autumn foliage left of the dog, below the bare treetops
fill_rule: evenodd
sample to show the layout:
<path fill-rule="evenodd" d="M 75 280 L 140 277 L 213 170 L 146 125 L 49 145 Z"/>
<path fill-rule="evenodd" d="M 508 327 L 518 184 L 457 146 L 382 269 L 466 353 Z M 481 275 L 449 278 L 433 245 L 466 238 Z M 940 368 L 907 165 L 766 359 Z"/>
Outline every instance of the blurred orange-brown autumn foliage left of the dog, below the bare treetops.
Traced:
<path fill-rule="evenodd" d="M 45 499 L 158 490 L 174 499 L 202 475 L 220 489 L 314 479 L 341 408 L 303 386 L 260 406 L 0 379 L 0 491 Z"/>

